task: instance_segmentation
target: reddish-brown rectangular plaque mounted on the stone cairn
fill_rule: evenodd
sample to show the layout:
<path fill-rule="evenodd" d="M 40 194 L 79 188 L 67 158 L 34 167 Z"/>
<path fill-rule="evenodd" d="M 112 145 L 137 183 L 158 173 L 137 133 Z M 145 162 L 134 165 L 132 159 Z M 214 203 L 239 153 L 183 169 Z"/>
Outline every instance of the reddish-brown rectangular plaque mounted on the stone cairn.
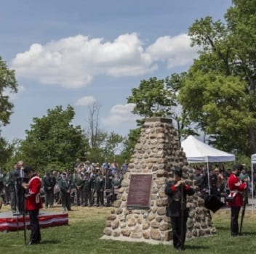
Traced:
<path fill-rule="evenodd" d="M 151 174 L 132 174 L 127 197 L 127 208 L 150 208 L 151 184 Z"/>

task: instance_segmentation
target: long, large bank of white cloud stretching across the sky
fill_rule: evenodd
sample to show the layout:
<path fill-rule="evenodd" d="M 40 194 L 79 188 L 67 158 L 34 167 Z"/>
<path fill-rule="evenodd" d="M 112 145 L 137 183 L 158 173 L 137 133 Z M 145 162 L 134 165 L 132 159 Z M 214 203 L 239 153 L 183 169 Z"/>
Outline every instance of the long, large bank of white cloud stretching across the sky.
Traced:
<path fill-rule="evenodd" d="M 169 68 L 186 65 L 196 52 L 190 43 L 185 34 L 160 37 L 147 48 L 137 33 L 123 34 L 113 41 L 78 35 L 31 45 L 16 55 L 12 68 L 17 77 L 75 89 L 88 86 L 97 75 L 151 73 L 159 61 L 167 61 Z"/>

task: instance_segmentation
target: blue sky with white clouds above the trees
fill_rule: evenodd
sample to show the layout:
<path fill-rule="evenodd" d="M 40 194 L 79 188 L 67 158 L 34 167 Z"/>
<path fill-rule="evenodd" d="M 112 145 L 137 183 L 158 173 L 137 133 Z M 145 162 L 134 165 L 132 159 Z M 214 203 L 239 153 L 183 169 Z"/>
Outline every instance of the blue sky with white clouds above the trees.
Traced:
<path fill-rule="evenodd" d="M 88 128 L 100 105 L 104 131 L 136 128 L 127 97 L 140 81 L 188 70 L 196 58 L 188 28 L 223 20 L 231 0 L 2 0 L 0 56 L 15 70 L 14 113 L 1 136 L 25 139 L 33 118 L 71 105 L 73 124 Z M 8 91 L 6 91 L 8 93 Z"/>

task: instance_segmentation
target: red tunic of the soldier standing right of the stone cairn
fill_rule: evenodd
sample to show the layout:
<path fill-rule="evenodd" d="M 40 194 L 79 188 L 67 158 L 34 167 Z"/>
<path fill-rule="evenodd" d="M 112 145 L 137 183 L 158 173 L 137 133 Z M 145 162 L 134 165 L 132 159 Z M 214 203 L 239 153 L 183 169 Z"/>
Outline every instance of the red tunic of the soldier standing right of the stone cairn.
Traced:
<path fill-rule="evenodd" d="M 247 183 L 242 183 L 234 173 L 231 173 L 231 176 L 229 176 L 228 178 L 228 188 L 231 192 L 231 196 L 234 197 L 233 202 L 228 202 L 228 205 L 242 206 L 243 205 L 242 193 L 247 188 Z"/>

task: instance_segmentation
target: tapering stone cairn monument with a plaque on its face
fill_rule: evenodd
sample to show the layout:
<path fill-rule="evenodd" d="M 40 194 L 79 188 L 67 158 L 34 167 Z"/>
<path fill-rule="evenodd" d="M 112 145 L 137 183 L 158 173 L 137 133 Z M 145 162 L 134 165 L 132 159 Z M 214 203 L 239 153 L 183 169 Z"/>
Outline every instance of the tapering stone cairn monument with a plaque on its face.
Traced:
<path fill-rule="evenodd" d="M 193 185 L 193 172 L 188 167 L 172 120 L 146 119 L 102 238 L 172 243 L 164 187 L 167 181 L 172 181 L 177 166 L 183 167 L 183 179 Z M 204 207 L 199 192 L 188 197 L 187 207 L 190 208 L 187 239 L 215 234 L 209 210 Z"/>

